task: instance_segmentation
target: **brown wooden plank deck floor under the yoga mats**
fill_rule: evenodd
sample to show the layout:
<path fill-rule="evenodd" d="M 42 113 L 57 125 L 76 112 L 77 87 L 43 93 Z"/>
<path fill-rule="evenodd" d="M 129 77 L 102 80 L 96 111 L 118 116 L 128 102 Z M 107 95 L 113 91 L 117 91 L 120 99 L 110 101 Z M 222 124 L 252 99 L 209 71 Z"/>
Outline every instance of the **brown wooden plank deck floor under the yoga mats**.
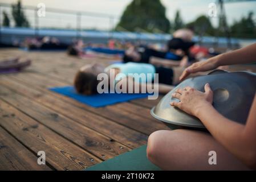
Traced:
<path fill-rule="evenodd" d="M 86 63 L 110 60 L 0 49 L 1 60 L 14 56 L 29 57 L 32 65 L 0 75 L 0 170 L 80 170 L 146 144 L 153 131 L 168 129 L 150 115 L 161 97 L 95 109 L 47 89 L 71 85 Z M 38 151 L 46 152 L 46 165 L 37 164 Z"/>

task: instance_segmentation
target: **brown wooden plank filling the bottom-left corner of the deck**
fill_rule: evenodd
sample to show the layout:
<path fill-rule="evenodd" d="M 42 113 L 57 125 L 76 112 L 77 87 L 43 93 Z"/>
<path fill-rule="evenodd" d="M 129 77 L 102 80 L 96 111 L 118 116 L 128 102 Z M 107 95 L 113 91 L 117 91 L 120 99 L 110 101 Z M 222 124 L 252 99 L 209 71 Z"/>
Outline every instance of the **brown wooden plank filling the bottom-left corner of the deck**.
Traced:
<path fill-rule="evenodd" d="M 37 159 L 35 154 L 0 127 L 0 171 L 51 170 L 47 165 L 39 165 Z"/>

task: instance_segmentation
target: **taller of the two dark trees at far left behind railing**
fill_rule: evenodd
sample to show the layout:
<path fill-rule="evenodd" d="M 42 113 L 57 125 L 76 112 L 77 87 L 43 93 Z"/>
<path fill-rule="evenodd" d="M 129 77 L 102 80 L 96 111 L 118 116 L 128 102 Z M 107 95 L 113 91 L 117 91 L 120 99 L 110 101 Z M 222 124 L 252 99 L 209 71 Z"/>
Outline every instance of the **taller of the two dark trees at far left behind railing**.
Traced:
<path fill-rule="evenodd" d="M 29 27 L 29 22 L 22 9 L 21 0 L 16 5 L 12 5 L 11 8 L 15 27 Z"/>

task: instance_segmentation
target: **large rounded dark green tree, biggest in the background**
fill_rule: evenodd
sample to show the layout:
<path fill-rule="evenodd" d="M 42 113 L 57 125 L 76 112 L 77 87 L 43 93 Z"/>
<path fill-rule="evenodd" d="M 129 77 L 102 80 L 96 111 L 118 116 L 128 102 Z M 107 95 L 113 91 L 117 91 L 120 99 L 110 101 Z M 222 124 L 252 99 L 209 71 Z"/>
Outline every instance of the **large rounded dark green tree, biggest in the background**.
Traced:
<path fill-rule="evenodd" d="M 165 16 L 165 7 L 160 0 L 133 0 L 125 9 L 116 29 L 128 31 L 166 32 L 170 22 Z"/>

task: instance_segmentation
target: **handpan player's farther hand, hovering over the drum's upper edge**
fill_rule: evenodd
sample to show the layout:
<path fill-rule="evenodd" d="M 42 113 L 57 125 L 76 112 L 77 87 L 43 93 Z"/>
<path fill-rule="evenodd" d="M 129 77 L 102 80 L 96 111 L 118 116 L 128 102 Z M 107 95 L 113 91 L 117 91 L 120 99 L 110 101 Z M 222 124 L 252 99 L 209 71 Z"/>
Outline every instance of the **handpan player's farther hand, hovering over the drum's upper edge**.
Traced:
<path fill-rule="evenodd" d="M 190 73 L 210 71 L 212 69 L 216 69 L 217 67 L 217 57 L 212 57 L 206 61 L 194 63 L 182 72 L 180 80 L 184 80 L 186 77 L 190 75 Z"/>

